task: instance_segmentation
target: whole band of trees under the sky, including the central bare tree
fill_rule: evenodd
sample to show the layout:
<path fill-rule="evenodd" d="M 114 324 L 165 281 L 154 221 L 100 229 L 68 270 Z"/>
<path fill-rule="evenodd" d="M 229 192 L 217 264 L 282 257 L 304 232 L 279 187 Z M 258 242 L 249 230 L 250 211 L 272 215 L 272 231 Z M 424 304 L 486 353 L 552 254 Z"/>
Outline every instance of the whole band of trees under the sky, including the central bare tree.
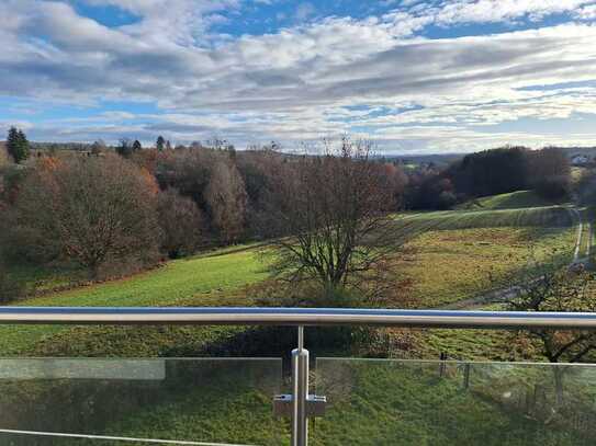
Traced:
<path fill-rule="evenodd" d="M 333 290 L 382 275 L 402 242 L 391 231 L 395 211 L 528 187 L 553 197 L 569 191 L 569 163 L 556 149 L 510 147 L 405 172 L 372 157 L 370 141 L 348 137 L 322 141 L 316 155 L 286 155 L 275 142 L 236 151 L 217 138 L 172 149 L 159 137 L 153 148 L 98 141 L 29 161 L 25 142 L 24 133 L 9 131 L 21 164 L 0 172 L 0 251 L 76 263 L 92 279 L 272 240 L 278 277 L 315 278 Z"/>

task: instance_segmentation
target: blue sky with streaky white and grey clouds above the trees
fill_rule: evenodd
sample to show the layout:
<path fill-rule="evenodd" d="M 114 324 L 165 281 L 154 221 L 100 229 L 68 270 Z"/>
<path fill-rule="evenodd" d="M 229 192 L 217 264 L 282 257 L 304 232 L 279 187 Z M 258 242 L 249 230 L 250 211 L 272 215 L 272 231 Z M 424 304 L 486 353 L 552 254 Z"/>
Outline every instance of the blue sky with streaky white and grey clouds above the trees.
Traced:
<path fill-rule="evenodd" d="M 596 0 L 0 0 L 0 131 L 596 145 Z"/>

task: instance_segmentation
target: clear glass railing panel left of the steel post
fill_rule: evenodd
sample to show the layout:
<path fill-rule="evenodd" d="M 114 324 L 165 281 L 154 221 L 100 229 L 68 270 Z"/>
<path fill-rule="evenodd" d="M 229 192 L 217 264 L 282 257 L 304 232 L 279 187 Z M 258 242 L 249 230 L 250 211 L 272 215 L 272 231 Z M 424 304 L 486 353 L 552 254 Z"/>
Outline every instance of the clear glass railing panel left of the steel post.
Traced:
<path fill-rule="evenodd" d="M 0 444 L 279 445 L 281 384 L 270 358 L 0 359 Z"/>

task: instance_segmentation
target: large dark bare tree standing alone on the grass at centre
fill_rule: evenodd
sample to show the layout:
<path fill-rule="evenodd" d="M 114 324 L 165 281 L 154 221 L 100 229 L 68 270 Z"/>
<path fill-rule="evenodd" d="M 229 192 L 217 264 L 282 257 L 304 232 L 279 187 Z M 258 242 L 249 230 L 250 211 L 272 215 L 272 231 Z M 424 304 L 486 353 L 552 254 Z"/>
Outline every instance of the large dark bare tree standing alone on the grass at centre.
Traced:
<path fill-rule="evenodd" d="M 271 194 L 288 236 L 273 242 L 275 275 L 327 291 L 378 276 L 402 240 L 389 213 L 393 191 L 370 153 L 371 142 L 342 138 L 337 150 L 325 141 L 322 156 L 285 164 Z"/>

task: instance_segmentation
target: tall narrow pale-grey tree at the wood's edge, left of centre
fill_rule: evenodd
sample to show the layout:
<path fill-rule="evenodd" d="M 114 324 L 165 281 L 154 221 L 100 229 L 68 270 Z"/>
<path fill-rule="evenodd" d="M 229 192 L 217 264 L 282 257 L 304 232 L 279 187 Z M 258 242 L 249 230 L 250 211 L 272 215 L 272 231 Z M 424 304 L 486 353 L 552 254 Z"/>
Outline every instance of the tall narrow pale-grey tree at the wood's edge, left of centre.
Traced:
<path fill-rule="evenodd" d="M 245 229 L 247 194 L 244 180 L 232 160 L 216 160 L 205 199 L 212 225 L 222 241 L 237 241 Z"/>

